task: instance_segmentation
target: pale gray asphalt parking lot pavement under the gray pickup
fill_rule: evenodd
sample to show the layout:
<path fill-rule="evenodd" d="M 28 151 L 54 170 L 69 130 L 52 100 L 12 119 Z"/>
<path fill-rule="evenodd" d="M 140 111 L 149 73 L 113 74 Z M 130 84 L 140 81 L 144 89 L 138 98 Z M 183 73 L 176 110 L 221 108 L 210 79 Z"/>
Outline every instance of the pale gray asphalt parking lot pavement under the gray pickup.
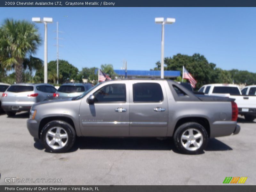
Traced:
<path fill-rule="evenodd" d="M 71 152 L 52 154 L 29 134 L 28 117 L 0 114 L 0 185 L 31 185 L 7 177 L 62 179 L 33 185 L 221 185 L 225 177 L 256 184 L 255 120 L 238 118 L 238 135 L 209 140 L 200 155 L 179 154 L 171 139 L 155 138 L 78 138 Z"/>

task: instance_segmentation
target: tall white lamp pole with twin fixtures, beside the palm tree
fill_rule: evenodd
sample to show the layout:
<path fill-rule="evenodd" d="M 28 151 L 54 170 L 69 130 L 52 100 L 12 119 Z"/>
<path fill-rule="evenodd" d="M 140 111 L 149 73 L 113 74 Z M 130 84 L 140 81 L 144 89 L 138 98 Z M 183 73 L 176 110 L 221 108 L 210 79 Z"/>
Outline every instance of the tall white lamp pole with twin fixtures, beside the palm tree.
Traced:
<path fill-rule="evenodd" d="M 47 78 L 47 23 L 52 23 L 51 17 L 32 17 L 32 21 L 36 23 L 44 23 L 44 83 L 48 83 Z"/>

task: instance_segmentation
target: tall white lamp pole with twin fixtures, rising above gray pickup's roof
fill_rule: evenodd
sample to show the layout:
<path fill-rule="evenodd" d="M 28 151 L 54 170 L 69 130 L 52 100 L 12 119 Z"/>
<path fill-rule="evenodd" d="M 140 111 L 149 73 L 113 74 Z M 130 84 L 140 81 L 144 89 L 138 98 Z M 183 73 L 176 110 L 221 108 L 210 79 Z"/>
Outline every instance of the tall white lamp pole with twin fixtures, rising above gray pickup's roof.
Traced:
<path fill-rule="evenodd" d="M 175 23 L 174 18 L 167 18 L 164 20 L 163 17 L 156 17 L 155 23 L 162 24 L 162 41 L 161 41 L 161 79 L 164 78 L 164 24 Z"/>

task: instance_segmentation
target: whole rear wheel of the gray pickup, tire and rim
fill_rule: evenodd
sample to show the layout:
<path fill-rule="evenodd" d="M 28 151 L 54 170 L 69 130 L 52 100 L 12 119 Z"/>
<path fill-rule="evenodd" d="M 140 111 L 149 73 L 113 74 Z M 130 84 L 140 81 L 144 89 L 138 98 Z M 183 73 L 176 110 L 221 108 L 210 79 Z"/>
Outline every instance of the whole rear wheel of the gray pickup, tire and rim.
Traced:
<path fill-rule="evenodd" d="M 199 154 L 208 143 L 208 134 L 205 128 L 196 122 L 182 124 L 173 136 L 176 148 L 185 154 Z"/>

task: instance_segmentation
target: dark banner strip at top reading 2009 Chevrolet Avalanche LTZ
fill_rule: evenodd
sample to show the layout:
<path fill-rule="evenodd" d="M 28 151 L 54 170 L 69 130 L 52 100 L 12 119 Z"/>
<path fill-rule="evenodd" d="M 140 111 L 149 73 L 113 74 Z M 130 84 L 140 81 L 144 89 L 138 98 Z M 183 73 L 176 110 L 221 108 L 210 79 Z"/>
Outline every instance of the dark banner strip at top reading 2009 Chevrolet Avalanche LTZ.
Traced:
<path fill-rule="evenodd" d="M 255 0 L 16 0 L 1 7 L 256 7 Z"/>

